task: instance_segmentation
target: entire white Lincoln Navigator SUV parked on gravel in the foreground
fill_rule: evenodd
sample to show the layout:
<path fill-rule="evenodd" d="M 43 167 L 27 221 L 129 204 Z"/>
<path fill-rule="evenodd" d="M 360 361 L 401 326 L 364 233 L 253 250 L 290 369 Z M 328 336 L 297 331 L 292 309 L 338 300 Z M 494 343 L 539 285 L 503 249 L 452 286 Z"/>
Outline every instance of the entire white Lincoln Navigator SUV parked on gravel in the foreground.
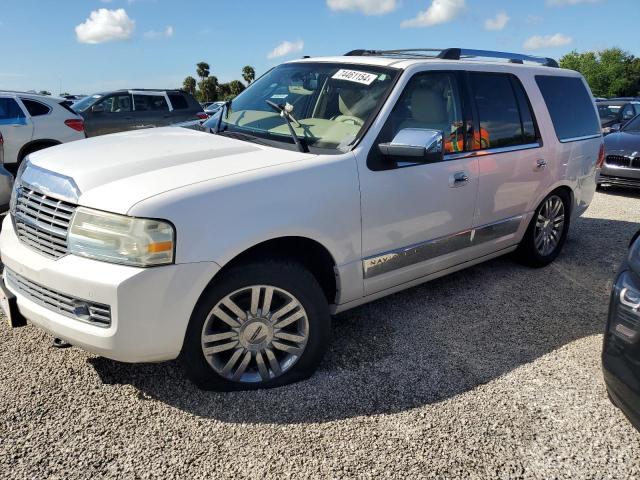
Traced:
<path fill-rule="evenodd" d="M 603 160 L 578 73 L 460 49 L 286 63 L 202 129 L 30 155 L 0 235 L 13 325 L 179 357 L 203 388 L 290 383 L 334 313 L 510 252 L 551 262 Z"/>

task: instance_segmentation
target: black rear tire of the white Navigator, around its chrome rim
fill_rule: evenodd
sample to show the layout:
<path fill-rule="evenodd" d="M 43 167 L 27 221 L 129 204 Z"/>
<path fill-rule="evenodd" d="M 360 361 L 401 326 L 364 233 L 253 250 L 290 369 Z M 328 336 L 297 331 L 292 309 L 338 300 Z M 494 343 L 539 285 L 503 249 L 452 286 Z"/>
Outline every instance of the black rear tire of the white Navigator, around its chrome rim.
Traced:
<path fill-rule="evenodd" d="M 556 244 L 555 248 L 553 248 L 553 250 L 548 253 L 545 252 L 545 254 L 542 254 L 535 244 L 536 221 L 538 219 L 538 216 L 540 215 L 540 212 L 544 208 L 545 203 L 547 202 L 547 200 L 551 199 L 552 197 L 558 197 L 562 201 L 562 204 L 564 207 L 564 224 L 562 226 L 560 239 Z M 571 219 L 571 200 L 569 198 L 569 195 L 563 190 L 557 190 L 555 192 L 551 192 L 549 195 L 547 195 L 547 197 L 545 197 L 545 199 L 542 202 L 540 202 L 540 205 L 538 205 L 538 208 L 536 208 L 533 218 L 531 219 L 531 222 L 527 227 L 527 231 L 525 232 L 524 237 L 520 242 L 520 245 L 518 245 L 518 249 L 515 252 L 516 259 L 520 263 L 523 263 L 524 265 L 528 265 L 534 268 L 540 268 L 540 267 L 545 267 L 549 265 L 551 262 L 553 262 L 556 259 L 556 257 L 562 251 L 564 242 L 567 239 L 567 233 L 569 232 L 570 219 Z"/>

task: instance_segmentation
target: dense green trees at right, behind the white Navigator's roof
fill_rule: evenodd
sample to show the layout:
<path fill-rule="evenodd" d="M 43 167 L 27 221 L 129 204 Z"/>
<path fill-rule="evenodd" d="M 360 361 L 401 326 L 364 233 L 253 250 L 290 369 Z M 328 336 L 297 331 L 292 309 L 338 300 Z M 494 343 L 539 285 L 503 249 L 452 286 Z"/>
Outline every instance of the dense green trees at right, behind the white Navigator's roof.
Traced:
<path fill-rule="evenodd" d="M 640 58 L 620 48 L 600 52 L 570 52 L 560 66 L 584 75 L 596 97 L 635 97 L 640 95 Z"/>

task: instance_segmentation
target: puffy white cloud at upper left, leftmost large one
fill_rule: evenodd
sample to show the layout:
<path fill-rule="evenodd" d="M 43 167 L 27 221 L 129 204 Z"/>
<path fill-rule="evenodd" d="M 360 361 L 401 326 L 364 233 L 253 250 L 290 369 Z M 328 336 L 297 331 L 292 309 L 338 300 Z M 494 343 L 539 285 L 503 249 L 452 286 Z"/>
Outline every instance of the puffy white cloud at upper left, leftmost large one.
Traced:
<path fill-rule="evenodd" d="M 94 10 L 89 18 L 76 27 L 76 38 L 80 43 L 105 43 L 127 40 L 133 35 L 136 22 L 131 20 L 124 8 Z"/>

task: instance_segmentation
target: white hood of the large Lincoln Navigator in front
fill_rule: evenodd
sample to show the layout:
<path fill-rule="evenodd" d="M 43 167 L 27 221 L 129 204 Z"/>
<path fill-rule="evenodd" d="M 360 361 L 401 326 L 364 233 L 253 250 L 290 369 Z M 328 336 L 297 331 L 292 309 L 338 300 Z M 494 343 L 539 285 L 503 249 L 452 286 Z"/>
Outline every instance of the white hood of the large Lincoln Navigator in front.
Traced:
<path fill-rule="evenodd" d="M 35 152 L 29 160 L 72 178 L 80 205 L 126 213 L 169 190 L 312 156 L 168 127 L 66 143 Z"/>

